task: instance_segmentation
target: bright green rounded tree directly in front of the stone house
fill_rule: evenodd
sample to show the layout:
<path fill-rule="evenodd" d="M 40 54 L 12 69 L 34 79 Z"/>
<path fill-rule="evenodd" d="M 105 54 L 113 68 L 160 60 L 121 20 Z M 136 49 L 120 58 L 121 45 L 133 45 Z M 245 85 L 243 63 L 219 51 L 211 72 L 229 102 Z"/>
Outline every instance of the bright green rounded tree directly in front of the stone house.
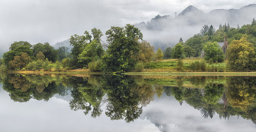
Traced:
<path fill-rule="evenodd" d="M 214 43 L 206 43 L 204 46 L 205 51 L 205 60 L 212 59 L 212 61 L 223 61 L 224 60 L 224 54 L 221 50 L 220 46 L 217 44 L 217 42 Z"/>

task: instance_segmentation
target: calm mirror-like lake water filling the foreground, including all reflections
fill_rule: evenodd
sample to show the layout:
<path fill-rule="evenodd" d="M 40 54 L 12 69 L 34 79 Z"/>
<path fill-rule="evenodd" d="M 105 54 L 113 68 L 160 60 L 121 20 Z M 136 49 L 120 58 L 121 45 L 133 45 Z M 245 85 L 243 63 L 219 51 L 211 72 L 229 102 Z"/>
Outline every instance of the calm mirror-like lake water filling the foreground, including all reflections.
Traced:
<path fill-rule="evenodd" d="M 256 76 L 0 74 L 2 132 L 252 132 Z"/>

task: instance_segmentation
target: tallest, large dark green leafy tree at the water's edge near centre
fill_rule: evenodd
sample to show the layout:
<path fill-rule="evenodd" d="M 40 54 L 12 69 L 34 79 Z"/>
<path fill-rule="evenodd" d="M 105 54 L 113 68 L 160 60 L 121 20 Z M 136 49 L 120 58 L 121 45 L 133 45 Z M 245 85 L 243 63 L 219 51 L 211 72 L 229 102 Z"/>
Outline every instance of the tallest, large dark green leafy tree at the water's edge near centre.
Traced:
<path fill-rule="evenodd" d="M 134 25 L 123 27 L 112 26 L 106 32 L 108 49 L 102 57 L 103 71 L 126 72 L 134 68 L 137 60 L 132 58 L 140 50 L 138 39 L 143 38 L 140 30 Z"/>

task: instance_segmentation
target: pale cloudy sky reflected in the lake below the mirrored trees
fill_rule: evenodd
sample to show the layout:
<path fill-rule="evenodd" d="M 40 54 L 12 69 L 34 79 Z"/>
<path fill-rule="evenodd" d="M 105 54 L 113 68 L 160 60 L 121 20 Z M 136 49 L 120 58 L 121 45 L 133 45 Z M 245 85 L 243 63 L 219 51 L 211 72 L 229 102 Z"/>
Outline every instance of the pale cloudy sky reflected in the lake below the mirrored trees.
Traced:
<path fill-rule="evenodd" d="M 2 86 L 2 84 L 1 84 Z M 69 108 L 70 93 L 65 97 L 58 94 L 49 101 L 31 99 L 28 102 L 14 102 L 0 88 L 0 131 L 139 131 L 139 132 L 236 132 L 255 131 L 256 125 L 250 120 L 237 119 L 220 120 L 219 116 L 204 119 L 200 111 L 183 102 L 182 106 L 165 94 L 151 101 L 143 108 L 143 113 L 134 122 L 123 120 L 110 121 L 105 115 L 105 109 L 95 119 L 84 115 L 83 110 L 73 111 Z M 103 106 L 105 107 L 105 106 Z"/>

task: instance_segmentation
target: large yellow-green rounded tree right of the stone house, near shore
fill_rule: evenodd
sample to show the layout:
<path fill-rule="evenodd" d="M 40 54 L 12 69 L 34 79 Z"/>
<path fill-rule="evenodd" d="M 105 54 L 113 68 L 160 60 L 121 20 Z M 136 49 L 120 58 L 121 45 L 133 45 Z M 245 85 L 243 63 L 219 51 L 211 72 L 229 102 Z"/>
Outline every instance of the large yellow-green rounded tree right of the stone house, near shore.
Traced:
<path fill-rule="evenodd" d="M 240 40 L 233 40 L 227 49 L 228 67 L 232 70 L 249 70 L 255 62 L 253 44 L 243 36 Z"/>

